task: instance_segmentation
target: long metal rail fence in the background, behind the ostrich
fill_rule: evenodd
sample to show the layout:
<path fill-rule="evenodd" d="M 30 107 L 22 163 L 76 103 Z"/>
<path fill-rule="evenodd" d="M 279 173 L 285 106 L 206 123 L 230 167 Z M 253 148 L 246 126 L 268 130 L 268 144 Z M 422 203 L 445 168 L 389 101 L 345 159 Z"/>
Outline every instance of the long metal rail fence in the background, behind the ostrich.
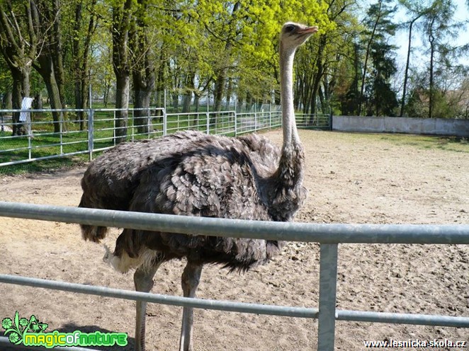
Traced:
<path fill-rule="evenodd" d="M 13 123 L 13 113 L 30 114 L 27 121 Z M 52 113 L 59 115 L 52 121 Z M 127 115 L 122 117 L 123 113 Z M 0 166 L 88 154 L 114 147 L 118 142 L 162 137 L 181 130 L 236 137 L 239 134 L 278 128 L 278 106 L 237 113 L 236 110 L 202 113 L 166 113 L 150 109 L 0 110 Z M 325 115 L 297 116 L 299 127 L 330 129 Z M 21 127 L 24 135 L 12 135 Z M 124 135 L 124 137 L 122 137 Z"/>

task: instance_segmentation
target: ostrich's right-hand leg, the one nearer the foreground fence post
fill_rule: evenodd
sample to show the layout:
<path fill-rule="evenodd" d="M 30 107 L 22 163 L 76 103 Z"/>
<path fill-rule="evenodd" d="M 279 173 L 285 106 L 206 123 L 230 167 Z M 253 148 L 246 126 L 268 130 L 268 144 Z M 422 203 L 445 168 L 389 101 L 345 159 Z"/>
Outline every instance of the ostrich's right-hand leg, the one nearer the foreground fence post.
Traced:
<path fill-rule="evenodd" d="M 184 297 L 196 297 L 200 274 L 203 265 L 188 261 L 184 272 L 182 273 L 181 285 Z M 192 351 L 192 322 L 193 308 L 183 307 L 181 340 L 179 342 L 179 351 Z"/>

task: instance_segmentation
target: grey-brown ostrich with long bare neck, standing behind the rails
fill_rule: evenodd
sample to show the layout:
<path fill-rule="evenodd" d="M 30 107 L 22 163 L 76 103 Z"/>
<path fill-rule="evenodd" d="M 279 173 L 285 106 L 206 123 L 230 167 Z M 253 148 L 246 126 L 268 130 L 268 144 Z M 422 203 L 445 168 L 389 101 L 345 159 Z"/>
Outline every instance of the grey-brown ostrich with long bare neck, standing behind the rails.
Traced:
<path fill-rule="evenodd" d="M 280 37 L 283 146 L 256 135 L 229 138 L 182 132 L 147 143 L 123 144 L 91 163 L 81 181 L 80 207 L 200 217 L 290 221 L 303 205 L 305 154 L 293 110 L 295 50 L 317 27 L 283 25 Z M 101 186 L 102 185 L 102 186 Z M 100 241 L 106 228 L 81 226 L 85 239 Z M 188 236 L 124 229 L 107 260 L 116 270 L 135 268 L 135 289 L 149 292 L 158 267 L 186 258 L 184 297 L 196 297 L 205 263 L 246 271 L 266 263 L 281 241 Z M 135 350 L 145 350 L 146 302 L 137 301 Z M 179 350 L 192 350 L 193 308 L 183 308 Z"/>

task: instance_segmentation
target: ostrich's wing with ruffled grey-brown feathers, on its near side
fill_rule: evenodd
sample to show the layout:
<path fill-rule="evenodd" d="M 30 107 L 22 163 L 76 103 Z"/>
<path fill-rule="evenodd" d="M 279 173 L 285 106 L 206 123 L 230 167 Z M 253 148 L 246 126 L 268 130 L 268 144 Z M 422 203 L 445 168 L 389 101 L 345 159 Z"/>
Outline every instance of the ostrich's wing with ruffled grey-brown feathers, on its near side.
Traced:
<path fill-rule="evenodd" d="M 265 180 L 252 164 L 252 150 L 237 139 L 227 140 L 231 142 L 216 139 L 213 144 L 173 155 L 147 168 L 130 210 L 271 220 L 263 193 Z M 187 257 L 196 263 L 222 263 L 231 270 L 247 270 L 269 260 L 280 247 L 277 241 L 125 229 L 114 255 L 145 257 L 144 252 L 150 249 L 164 253 L 165 260 Z"/>

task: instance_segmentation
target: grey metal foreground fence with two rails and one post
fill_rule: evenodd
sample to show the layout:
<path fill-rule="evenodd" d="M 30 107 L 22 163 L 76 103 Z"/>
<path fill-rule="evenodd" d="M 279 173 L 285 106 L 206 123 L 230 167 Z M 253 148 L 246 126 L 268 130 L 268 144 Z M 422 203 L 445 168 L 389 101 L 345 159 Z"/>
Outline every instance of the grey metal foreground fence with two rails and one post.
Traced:
<path fill-rule="evenodd" d="M 93 287 L 84 284 L 0 275 L 0 282 L 5 284 L 20 284 L 119 299 L 142 300 L 158 304 L 192 306 L 200 309 L 317 318 L 317 350 L 321 351 L 334 350 L 335 321 L 405 323 L 469 328 L 469 316 L 381 313 L 336 309 L 337 249 L 339 243 L 469 244 L 469 225 L 283 223 L 184 217 L 15 202 L 0 202 L 0 216 L 191 235 L 234 236 L 238 238 L 320 243 L 320 297 L 317 309 L 170 297 L 161 294 L 110 289 L 108 287 Z M 0 345 L 9 345 L 8 339 L 0 338 Z M 72 350 L 72 348 L 67 348 L 67 350 Z M 84 349 L 76 348 L 75 350 Z"/>

